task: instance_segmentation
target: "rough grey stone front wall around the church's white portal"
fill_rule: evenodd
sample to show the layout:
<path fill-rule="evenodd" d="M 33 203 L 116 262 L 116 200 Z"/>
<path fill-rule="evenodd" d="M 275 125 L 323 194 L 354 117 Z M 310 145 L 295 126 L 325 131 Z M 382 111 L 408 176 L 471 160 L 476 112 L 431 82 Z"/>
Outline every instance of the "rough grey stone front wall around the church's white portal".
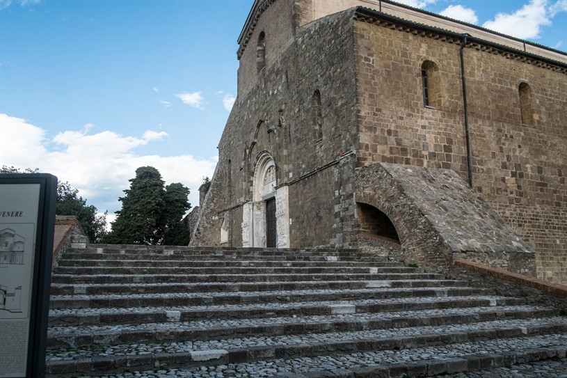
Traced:
<path fill-rule="evenodd" d="M 266 18 L 262 21 L 265 27 L 278 24 L 291 28 L 292 21 L 282 19 L 287 12 L 270 13 L 277 9 L 271 6 L 262 17 L 280 21 L 271 23 Z M 273 29 L 257 24 L 250 36 L 252 41 L 262 31 L 271 30 L 266 32 L 266 67 L 262 72 L 246 71 L 244 66 L 252 64 L 249 49 L 241 57 L 239 75 L 248 72 L 253 77 L 239 76 L 239 97 L 218 145 L 219 162 L 211 194 L 207 194 L 202 221 L 191 245 L 218 245 L 219 237 L 209 235 L 220 235 L 220 219 L 225 214 L 231 224 L 228 245 L 242 245 L 242 207 L 253 200 L 255 166 L 265 154 L 275 162 L 278 188 L 288 187 L 290 233 L 295 233 L 290 246 L 342 246 L 353 242 L 352 152 L 356 150 L 358 129 L 352 111 L 356 107 L 352 12 L 295 31 L 296 40 L 281 53 L 277 64 L 268 63 L 267 51 L 274 43 L 279 49 L 283 42 L 271 39 Z M 292 31 L 282 31 L 283 35 L 289 33 Z M 245 88 L 250 83 L 254 84 L 253 90 Z M 314 126 L 317 90 L 319 135 Z M 212 198 L 216 198 L 214 204 Z M 296 227 L 300 228 L 293 230 Z"/>

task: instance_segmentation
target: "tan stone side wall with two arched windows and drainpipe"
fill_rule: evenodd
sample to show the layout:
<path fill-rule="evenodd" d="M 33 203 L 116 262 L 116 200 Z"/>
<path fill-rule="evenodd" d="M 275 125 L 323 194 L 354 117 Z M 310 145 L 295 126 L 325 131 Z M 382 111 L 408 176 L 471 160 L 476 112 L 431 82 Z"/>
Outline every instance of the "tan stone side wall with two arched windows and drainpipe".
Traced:
<path fill-rule="evenodd" d="M 460 41 L 388 23 L 355 22 L 354 31 L 358 166 L 448 168 L 468 180 Z M 463 56 L 472 187 L 536 251 L 538 277 L 567 282 L 567 74 L 477 44 Z M 428 62 L 438 72 L 430 77 L 438 81 L 435 109 L 424 107 L 422 94 Z M 522 83 L 533 92 L 527 121 Z"/>

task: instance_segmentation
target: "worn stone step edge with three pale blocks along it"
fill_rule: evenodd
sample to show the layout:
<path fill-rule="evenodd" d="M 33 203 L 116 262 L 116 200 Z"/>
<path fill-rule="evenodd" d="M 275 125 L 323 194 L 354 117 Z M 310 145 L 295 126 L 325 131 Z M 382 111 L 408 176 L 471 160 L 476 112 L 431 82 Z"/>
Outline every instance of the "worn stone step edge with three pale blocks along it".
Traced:
<path fill-rule="evenodd" d="M 432 310 L 441 308 L 521 306 L 526 300 L 513 297 L 447 297 L 445 299 L 416 301 L 407 298 L 390 301 L 342 301 L 299 302 L 298 304 L 269 304 L 270 306 L 232 305 L 232 306 L 185 306 L 163 308 L 80 308 L 69 310 L 49 310 L 50 325 L 102 325 L 102 324 L 143 324 L 168 321 L 168 313 L 179 312 L 179 321 L 205 319 L 235 319 L 276 316 L 333 315 L 335 305 L 354 306 L 356 313 L 388 313 L 403 310 Z M 422 301 L 419 301 L 422 299 Z M 431 299 L 430 297 L 427 299 Z"/>

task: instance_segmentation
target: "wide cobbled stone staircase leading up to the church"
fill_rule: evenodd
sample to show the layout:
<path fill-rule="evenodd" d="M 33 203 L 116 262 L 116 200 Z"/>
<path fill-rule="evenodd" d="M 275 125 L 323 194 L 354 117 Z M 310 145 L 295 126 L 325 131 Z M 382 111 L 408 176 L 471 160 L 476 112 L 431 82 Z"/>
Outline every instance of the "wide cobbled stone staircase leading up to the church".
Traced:
<path fill-rule="evenodd" d="M 567 318 L 360 251 L 87 245 L 47 342 L 50 377 L 421 377 L 567 365 Z"/>

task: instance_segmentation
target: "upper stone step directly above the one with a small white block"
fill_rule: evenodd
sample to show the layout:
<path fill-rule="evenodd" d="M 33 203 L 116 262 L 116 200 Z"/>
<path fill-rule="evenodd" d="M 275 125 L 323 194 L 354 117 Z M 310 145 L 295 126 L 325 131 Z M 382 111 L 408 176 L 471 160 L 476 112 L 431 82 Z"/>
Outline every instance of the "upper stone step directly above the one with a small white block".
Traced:
<path fill-rule="evenodd" d="M 403 267 L 401 262 L 282 260 L 58 260 L 59 267 Z"/>

